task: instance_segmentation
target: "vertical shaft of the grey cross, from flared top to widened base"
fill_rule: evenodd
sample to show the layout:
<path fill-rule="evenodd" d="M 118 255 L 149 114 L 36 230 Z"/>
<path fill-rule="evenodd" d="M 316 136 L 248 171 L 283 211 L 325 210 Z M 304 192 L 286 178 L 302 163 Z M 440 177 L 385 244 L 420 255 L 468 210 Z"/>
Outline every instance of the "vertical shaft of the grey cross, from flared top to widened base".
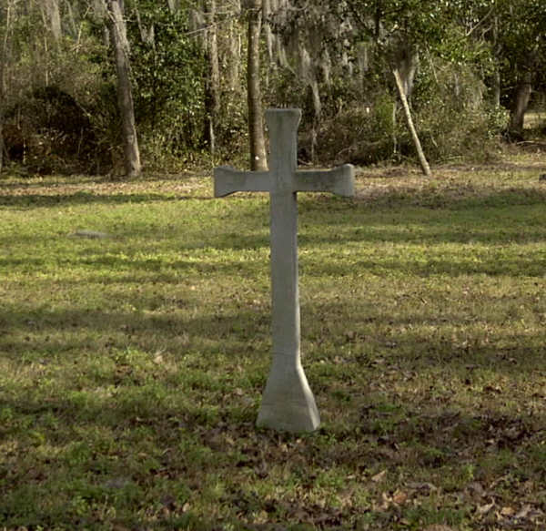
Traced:
<path fill-rule="evenodd" d="M 273 360 L 258 413 L 258 425 L 313 431 L 319 410 L 301 366 L 299 350 L 298 201 L 294 190 L 300 112 L 271 109 L 271 292 Z"/>

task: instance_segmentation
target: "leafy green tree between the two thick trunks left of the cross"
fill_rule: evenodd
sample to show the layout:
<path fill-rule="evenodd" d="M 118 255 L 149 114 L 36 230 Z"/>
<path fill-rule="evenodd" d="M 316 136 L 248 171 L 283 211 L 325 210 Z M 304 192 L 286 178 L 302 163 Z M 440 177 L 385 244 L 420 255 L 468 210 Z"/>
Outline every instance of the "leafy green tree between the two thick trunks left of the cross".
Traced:
<path fill-rule="evenodd" d="M 210 116 L 219 95 L 207 52 L 209 16 L 202 3 L 195 9 L 173 6 L 139 0 L 127 7 L 136 125 L 143 154 L 159 165 L 205 146 L 212 151 L 211 141 L 215 146 L 221 141 L 219 118 Z"/>

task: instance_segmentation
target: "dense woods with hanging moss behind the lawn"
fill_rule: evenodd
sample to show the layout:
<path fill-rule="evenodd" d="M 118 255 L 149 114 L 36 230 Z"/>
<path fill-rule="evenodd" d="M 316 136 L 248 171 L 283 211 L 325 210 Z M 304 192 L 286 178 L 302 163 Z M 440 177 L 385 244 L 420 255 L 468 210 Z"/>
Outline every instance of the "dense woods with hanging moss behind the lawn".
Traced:
<path fill-rule="evenodd" d="M 543 107 L 544 27 L 543 0 L 3 0 L 0 171 L 264 168 L 265 107 L 303 109 L 301 163 L 487 158 Z"/>

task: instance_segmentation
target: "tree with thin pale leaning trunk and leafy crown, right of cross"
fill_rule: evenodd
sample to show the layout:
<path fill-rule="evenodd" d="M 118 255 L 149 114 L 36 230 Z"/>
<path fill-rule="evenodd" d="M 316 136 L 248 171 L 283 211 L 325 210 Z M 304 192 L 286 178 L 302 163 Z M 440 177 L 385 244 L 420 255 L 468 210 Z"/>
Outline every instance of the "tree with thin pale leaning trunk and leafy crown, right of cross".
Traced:
<path fill-rule="evenodd" d="M 389 69 L 404 116 L 418 153 L 423 173 L 430 175 L 430 166 L 420 145 L 413 124 L 410 96 L 419 65 L 420 51 L 431 46 L 444 25 L 444 2 L 436 0 L 319 0 L 306 8 L 304 0 L 294 0 L 295 8 L 280 31 L 297 35 L 300 61 L 307 63 L 306 72 L 312 88 L 316 114 L 319 106 L 317 74 L 312 64 L 324 70 L 323 62 L 337 56 L 337 64 L 352 67 L 349 55 L 359 48 L 372 48 Z M 288 28 L 288 29 L 287 29 Z M 330 60 L 329 60 L 330 62 Z"/>

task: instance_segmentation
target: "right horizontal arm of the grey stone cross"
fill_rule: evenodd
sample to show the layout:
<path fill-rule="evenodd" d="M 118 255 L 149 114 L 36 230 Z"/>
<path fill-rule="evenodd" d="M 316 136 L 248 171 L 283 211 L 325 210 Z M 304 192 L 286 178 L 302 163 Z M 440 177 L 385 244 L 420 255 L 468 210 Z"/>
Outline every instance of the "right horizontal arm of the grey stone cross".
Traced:
<path fill-rule="evenodd" d="M 355 195 L 355 171 L 352 164 L 333 169 L 304 169 L 294 175 L 294 191 L 331 192 L 339 196 Z"/>

